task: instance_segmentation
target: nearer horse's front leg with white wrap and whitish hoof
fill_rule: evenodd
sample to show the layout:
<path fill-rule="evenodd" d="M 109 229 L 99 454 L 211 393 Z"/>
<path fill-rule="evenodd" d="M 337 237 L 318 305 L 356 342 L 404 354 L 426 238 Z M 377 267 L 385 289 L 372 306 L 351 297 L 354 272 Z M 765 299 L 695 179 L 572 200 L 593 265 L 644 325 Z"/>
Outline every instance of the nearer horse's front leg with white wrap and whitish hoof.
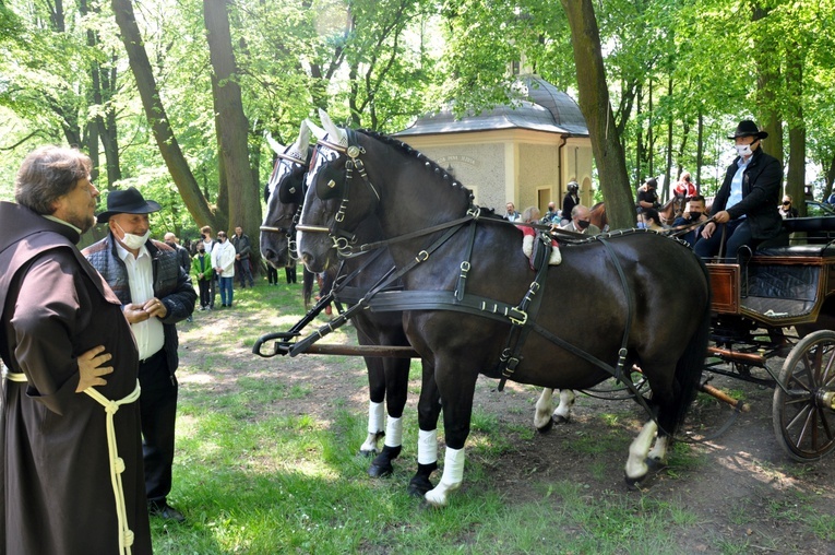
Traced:
<path fill-rule="evenodd" d="M 429 505 L 445 507 L 449 494 L 461 487 L 464 481 L 464 445 L 469 435 L 469 422 L 473 416 L 473 397 L 476 389 L 477 370 L 455 367 L 455 363 L 446 363 L 446 374 L 436 373 L 443 381 L 439 383 L 443 400 L 443 427 L 446 439 L 443 474 L 441 481 L 426 493 Z"/>

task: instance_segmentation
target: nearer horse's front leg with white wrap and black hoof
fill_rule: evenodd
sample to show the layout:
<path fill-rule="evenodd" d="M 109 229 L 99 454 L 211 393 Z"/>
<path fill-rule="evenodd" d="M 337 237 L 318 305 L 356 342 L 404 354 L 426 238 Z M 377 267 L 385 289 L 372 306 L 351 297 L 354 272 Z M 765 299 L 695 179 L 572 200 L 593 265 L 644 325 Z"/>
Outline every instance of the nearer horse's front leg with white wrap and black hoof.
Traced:
<path fill-rule="evenodd" d="M 418 400 L 418 469 L 409 481 L 408 493 L 424 496 L 432 489 L 429 476 L 438 470 L 438 416 L 441 395 L 434 381 L 434 366 L 422 361 L 424 371 Z"/>

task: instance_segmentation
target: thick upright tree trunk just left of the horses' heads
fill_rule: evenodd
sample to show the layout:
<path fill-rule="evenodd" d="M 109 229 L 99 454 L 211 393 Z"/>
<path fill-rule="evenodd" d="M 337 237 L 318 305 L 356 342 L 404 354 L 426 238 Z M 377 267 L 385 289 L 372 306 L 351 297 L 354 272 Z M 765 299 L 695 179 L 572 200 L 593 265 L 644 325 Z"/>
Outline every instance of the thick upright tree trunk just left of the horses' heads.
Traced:
<path fill-rule="evenodd" d="M 238 67 L 231 45 L 229 14 L 226 2 L 203 0 L 203 16 L 206 22 L 208 54 L 212 62 L 212 90 L 217 109 L 217 138 L 226 185 L 229 192 L 229 236 L 234 227 L 243 228 L 253 245 L 260 245 L 261 196 L 258 184 L 252 179 L 249 165 L 249 125 L 243 114 L 240 85 L 237 82 Z M 258 262 L 258 249 L 251 256 Z"/>

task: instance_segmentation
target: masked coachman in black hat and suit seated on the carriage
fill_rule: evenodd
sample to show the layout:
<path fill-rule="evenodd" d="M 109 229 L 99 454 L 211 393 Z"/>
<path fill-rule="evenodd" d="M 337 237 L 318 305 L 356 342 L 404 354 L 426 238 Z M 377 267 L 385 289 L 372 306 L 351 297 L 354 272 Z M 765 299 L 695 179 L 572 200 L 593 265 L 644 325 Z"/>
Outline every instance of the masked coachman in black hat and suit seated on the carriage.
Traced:
<path fill-rule="evenodd" d="M 761 143 L 766 137 L 768 133 L 748 119 L 740 121 L 733 134 L 728 137 L 735 142 L 737 157 L 728 166 L 713 201 L 712 221 L 704 225 L 702 239 L 695 244 L 693 250 L 697 256 L 716 256 L 724 240 L 725 258 L 733 261 L 741 247 L 755 250 L 758 245 L 776 237 L 783 229 L 783 219 L 777 211 L 783 165 L 763 152 Z"/>

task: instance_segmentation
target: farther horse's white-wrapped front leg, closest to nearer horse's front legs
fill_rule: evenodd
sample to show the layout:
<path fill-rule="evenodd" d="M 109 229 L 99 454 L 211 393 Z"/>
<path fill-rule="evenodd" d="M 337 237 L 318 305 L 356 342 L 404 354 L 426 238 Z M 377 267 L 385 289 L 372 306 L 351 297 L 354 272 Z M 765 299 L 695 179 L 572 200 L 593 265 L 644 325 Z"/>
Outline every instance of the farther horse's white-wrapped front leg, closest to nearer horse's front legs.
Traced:
<path fill-rule="evenodd" d="M 409 358 L 383 358 L 385 367 L 385 402 L 389 421 L 385 425 L 383 450 L 371 462 L 368 474 L 385 477 L 394 472 L 392 461 L 401 454 L 403 444 L 403 408 L 406 405 L 409 379 Z"/>

